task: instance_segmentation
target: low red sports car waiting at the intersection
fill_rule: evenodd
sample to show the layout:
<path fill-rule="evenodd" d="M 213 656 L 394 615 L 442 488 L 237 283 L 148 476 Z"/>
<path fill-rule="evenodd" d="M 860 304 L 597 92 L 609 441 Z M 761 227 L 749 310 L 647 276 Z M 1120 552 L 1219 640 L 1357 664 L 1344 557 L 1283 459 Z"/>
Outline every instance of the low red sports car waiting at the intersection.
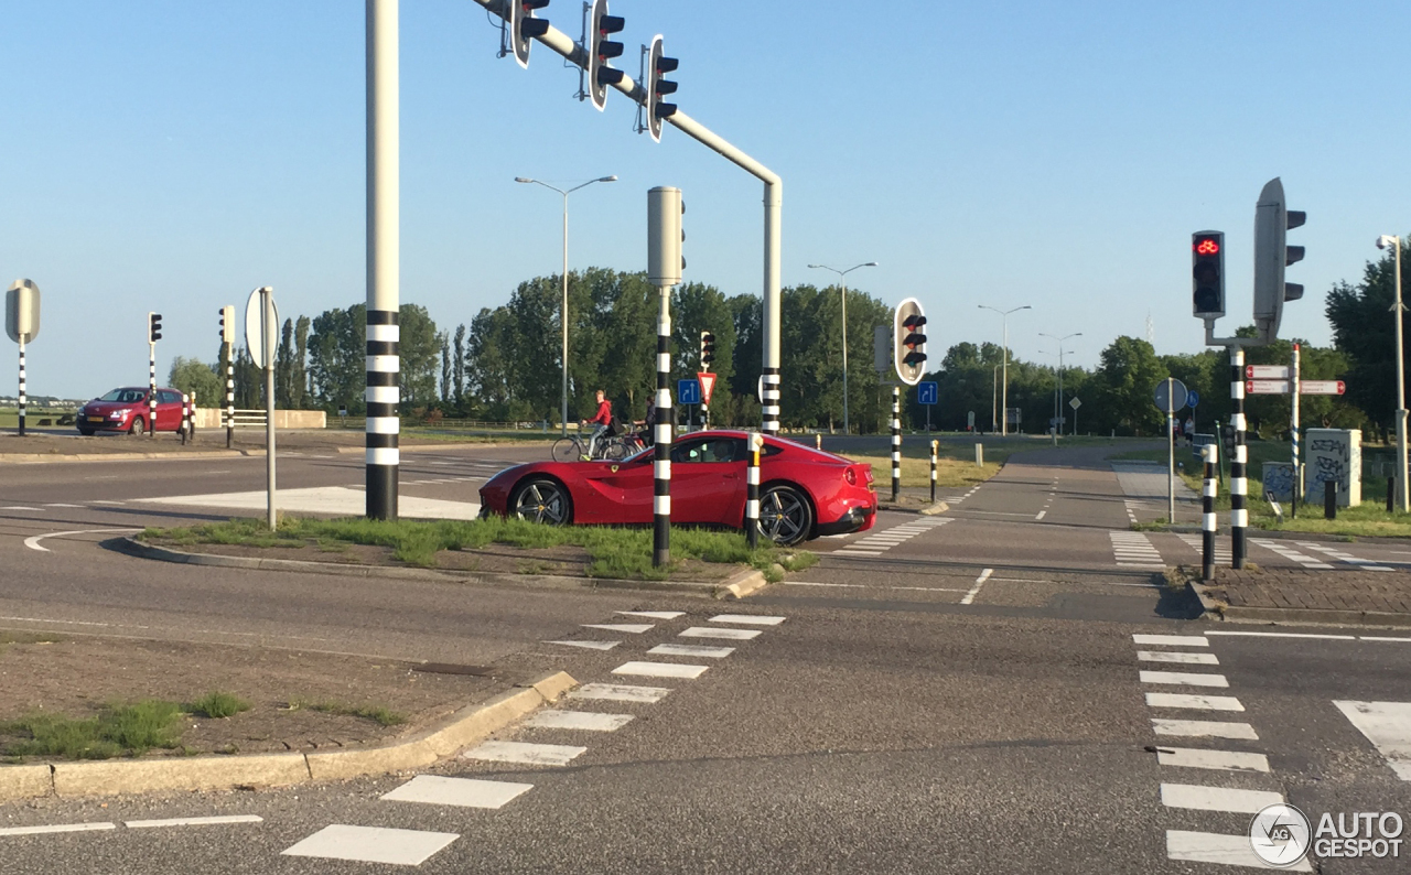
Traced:
<path fill-rule="evenodd" d="M 696 432 L 672 445 L 672 522 L 745 525 L 745 432 Z M 553 525 L 652 522 L 652 461 L 535 461 L 499 471 L 480 488 L 481 514 Z M 800 443 L 765 438 L 759 457 L 759 528 L 775 543 L 872 528 L 872 466 Z"/>

